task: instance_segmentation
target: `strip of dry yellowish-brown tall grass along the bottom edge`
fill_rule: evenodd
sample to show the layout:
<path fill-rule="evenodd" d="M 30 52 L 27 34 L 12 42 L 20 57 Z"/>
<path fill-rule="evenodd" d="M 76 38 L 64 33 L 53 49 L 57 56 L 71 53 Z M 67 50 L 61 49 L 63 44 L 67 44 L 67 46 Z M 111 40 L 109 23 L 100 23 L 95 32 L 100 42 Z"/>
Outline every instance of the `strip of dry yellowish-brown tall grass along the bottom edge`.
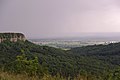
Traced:
<path fill-rule="evenodd" d="M 37 76 L 28 76 L 26 74 L 13 74 L 8 72 L 0 72 L 0 80 L 71 80 L 70 78 L 63 78 L 61 76 L 51 76 L 51 75 L 44 75 L 42 78 L 39 78 Z M 77 78 L 74 78 L 73 80 L 87 80 L 85 77 L 78 76 Z"/>

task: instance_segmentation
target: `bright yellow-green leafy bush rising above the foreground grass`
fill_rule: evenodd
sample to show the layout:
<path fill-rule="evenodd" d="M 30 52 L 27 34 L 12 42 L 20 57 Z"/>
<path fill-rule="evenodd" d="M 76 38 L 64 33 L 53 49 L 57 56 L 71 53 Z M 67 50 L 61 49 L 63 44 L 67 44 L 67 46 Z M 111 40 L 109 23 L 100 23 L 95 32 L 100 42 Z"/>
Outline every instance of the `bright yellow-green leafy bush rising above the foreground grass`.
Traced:
<path fill-rule="evenodd" d="M 38 57 L 33 59 L 28 59 L 25 54 L 18 55 L 16 60 L 10 63 L 7 67 L 7 71 L 16 74 L 27 74 L 28 76 L 39 76 L 42 77 L 45 72 L 45 69 L 38 62 Z"/>

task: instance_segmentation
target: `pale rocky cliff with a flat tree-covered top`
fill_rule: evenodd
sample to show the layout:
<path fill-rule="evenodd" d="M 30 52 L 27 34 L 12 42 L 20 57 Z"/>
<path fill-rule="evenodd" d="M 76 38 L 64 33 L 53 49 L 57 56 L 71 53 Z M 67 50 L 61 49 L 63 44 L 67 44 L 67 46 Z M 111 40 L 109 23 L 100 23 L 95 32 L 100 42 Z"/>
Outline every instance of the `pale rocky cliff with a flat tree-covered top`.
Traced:
<path fill-rule="evenodd" d="M 11 42 L 25 41 L 26 38 L 22 33 L 0 33 L 0 43 L 9 40 Z"/>

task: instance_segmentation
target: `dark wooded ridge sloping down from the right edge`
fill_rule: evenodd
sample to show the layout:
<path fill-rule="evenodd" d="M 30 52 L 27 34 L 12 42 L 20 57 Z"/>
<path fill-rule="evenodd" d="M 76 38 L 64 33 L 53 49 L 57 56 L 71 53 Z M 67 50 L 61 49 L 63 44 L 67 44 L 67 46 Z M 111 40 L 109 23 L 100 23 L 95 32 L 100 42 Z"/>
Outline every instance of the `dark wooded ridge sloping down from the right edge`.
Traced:
<path fill-rule="evenodd" d="M 108 45 L 89 45 L 86 47 L 76 47 L 72 48 L 71 51 L 74 54 L 79 55 L 97 55 L 97 56 L 112 56 L 120 55 L 120 42 L 119 43 L 110 43 Z"/>

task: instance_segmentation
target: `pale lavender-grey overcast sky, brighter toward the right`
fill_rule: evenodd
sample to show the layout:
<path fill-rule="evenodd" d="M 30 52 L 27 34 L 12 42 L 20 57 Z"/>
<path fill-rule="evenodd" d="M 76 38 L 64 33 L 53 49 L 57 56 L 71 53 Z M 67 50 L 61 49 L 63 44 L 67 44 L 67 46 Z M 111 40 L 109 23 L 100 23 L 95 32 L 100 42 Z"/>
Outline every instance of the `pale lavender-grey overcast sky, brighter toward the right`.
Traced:
<path fill-rule="evenodd" d="M 120 32 L 120 0 L 0 0 L 0 32 L 29 38 Z"/>

